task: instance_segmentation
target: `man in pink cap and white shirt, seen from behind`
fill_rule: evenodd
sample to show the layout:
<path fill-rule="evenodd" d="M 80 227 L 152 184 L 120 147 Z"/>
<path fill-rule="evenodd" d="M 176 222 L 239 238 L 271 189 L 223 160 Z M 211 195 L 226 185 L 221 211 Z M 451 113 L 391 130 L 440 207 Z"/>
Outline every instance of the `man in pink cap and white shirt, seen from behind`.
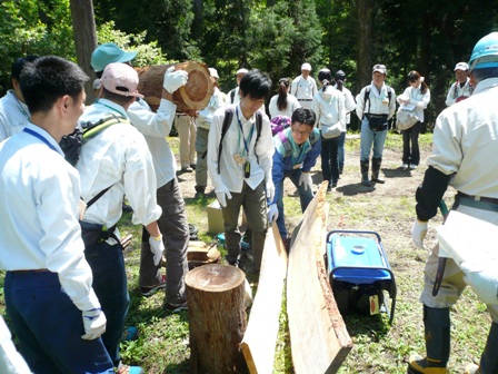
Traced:
<path fill-rule="evenodd" d="M 138 75 L 128 65 L 109 63 L 100 78 L 102 96 L 88 107 L 80 118 L 96 124 L 107 118 L 119 122 L 83 140 L 77 169 L 81 176 L 81 198 L 87 204 L 110 187 L 82 218 L 84 232 L 100 235 L 86 243 L 84 255 L 93 270 L 93 288 L 108 316 L 102 341 L 116 367 L 120 368 L 119 343 L 124 327 L 130 298 L 119 230 L 122 199 L 127 195 L 133 208 L 132 223 L 143 225 L 150 235 L 151 254 L 156 265 L 162 257 L 163 244 L 157 220 L 161 208 L 156 201 L 156 174 L 152 157 L 143 136 L 130 125 L 127 109 L 140 94 Z"/>

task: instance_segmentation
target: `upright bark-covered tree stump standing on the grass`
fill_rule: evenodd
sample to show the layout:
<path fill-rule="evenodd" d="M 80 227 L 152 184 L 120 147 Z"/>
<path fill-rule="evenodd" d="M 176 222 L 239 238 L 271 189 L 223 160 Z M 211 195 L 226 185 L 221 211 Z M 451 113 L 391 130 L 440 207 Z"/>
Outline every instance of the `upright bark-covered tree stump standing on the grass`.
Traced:
<path fill-rule="evenodd" d="M 240 351 L 247 327 L 245 279 L 230 265 L 205 265 L 187 274 L 191 373 L 247 371 Z"/>

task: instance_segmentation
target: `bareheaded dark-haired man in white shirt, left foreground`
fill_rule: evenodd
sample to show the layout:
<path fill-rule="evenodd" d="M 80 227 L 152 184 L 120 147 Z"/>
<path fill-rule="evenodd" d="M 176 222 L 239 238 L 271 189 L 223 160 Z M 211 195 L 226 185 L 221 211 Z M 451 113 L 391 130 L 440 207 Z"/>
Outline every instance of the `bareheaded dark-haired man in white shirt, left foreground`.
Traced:
<path fill-rule="evenodd" d="M 21 91 L 30 124 L 0 144 L 6 306 L 34 373 L 113 373 L 78 224 L 80 178 L 59 147 L 83 112 L 88 79 L 59 57 L 27 63 Z"/>

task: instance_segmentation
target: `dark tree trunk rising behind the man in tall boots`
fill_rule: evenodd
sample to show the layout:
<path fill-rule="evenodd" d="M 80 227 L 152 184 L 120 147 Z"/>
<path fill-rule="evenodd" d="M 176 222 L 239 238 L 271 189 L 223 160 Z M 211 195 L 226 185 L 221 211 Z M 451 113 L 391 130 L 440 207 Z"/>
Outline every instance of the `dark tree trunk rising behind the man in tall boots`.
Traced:
<path fill-rule="evenodd" d="M 371 7 L 370 0 L 358 0 L 358 91 L 371 81 Z"/>

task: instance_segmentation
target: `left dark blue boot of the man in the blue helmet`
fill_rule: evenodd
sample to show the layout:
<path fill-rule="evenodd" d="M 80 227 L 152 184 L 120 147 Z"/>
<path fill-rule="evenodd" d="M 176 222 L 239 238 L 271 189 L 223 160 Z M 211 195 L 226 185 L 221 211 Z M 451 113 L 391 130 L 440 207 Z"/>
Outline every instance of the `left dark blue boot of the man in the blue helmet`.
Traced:
<path fill-rule="evenodd" d="M 449 308 L 431 308 L 424 305 L 424 327 L 427 357 L 411 355 L 408 373 L 446 374 L 450 345 Z"/>

